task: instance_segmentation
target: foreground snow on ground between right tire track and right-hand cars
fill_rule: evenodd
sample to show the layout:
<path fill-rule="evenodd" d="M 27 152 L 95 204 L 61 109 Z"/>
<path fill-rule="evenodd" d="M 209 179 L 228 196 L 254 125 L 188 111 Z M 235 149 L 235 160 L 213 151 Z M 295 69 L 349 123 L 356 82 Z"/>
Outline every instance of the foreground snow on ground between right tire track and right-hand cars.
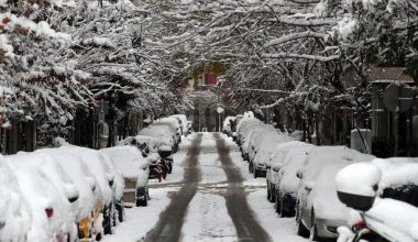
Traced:
<path fill-rule="evenodd" d="M 274 205 L 266 199 L 266 189 L 250 193 L 249 205 L 255 212 L 260 224 L 270 233 L 275 242 L 306 242 L 308 239 L 296 235 L 295 218 L 279 218 L 274 212 Z"/>

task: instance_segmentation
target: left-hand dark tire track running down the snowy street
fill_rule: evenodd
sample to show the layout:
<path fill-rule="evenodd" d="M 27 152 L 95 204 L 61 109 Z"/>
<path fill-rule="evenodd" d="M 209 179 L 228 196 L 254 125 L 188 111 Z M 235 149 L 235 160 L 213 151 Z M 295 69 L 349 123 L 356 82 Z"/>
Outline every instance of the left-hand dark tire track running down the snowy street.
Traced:
<path fill-rule="evenodd" d="M 146 235 L 146 242 L 177 242 L 180 239 L 182 227 L 187 207 L 195 197 L 200 180 L 198 156 L 202 134 L 197 134 L 187 153 L 184 186 L 172 197 L 166 210 L 160 215 L 156 227 Z"/>

